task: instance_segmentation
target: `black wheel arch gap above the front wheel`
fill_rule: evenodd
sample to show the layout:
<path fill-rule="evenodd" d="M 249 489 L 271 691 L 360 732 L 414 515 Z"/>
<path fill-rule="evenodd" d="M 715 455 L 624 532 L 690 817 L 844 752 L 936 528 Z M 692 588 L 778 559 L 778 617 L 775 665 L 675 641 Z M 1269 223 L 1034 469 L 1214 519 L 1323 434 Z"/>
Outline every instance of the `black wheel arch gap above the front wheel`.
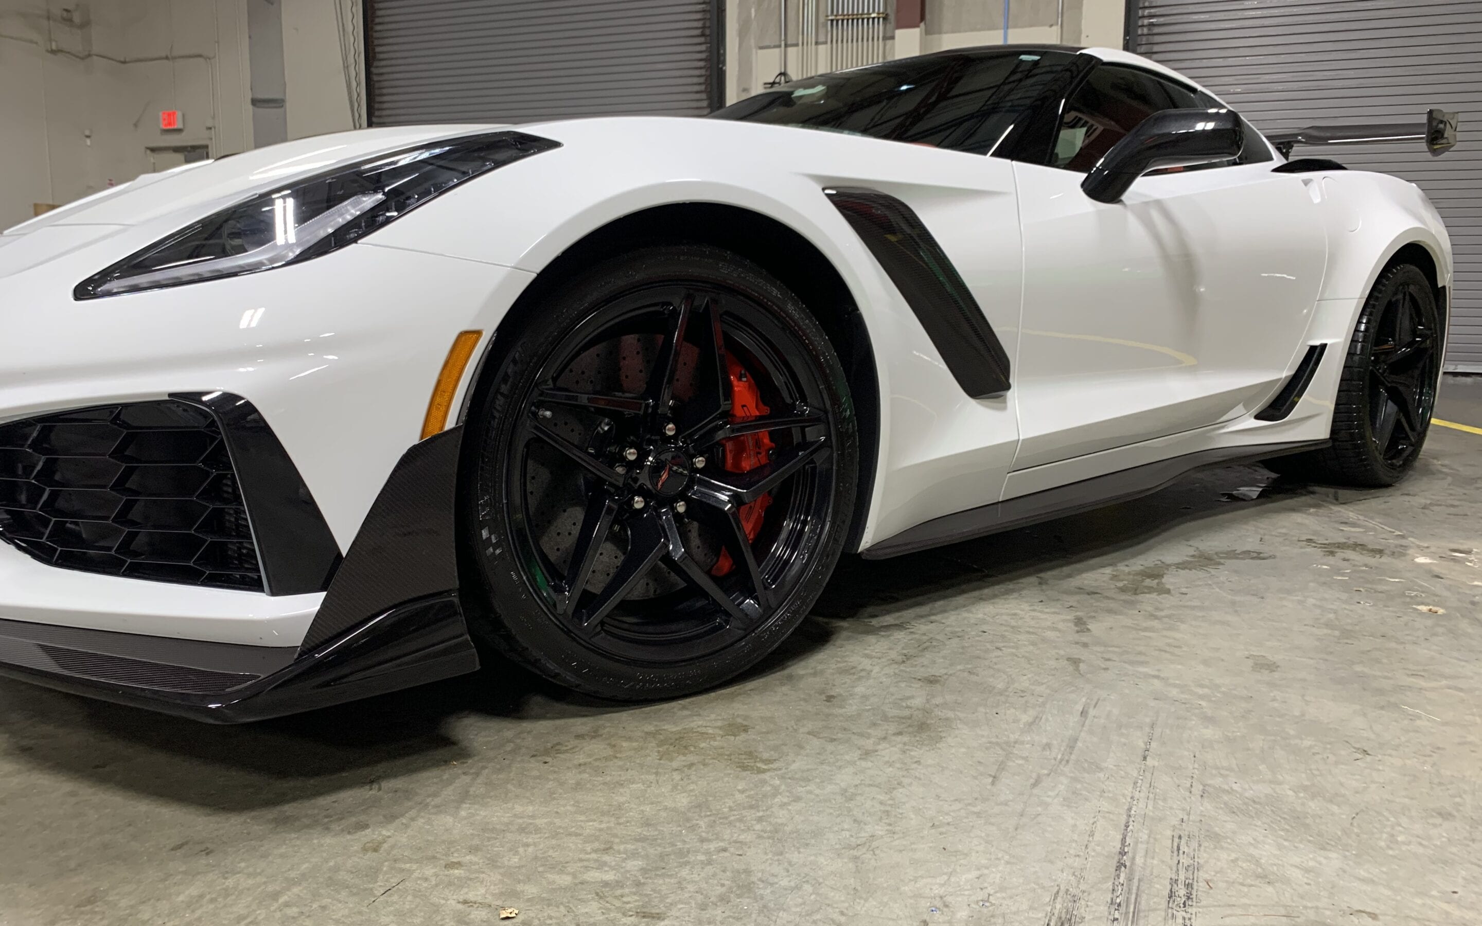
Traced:
<path fill-rule="evenodd" d="M 485 345 L 465 390 L 462 422 L 492 375 L 498 357 L 519 336 L 522 320 L 575 271 L 643 247 L 710 244 L 731 250 L 775 276 L 824 327 L 839 354 L 860 425 L 860 486 L 846 551 L 860 545 L 874 498 L 880 459 L 879 360 L 864 314 L 843 274 L 806 236 L 772 216 L 729 203 L 680 201 L 648 206 L 612 219 L 551 258 L 525 287 Z M 474 447 L 464 447 L 464 461 Z M 465 465 L 459 467 L 467 471 Z"/>

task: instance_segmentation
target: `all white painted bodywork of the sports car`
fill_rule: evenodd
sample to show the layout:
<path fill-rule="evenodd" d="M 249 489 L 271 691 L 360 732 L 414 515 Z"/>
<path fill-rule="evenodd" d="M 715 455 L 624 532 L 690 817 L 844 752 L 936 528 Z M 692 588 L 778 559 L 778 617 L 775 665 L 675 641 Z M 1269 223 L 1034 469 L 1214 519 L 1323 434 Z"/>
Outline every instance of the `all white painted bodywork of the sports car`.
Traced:
<path fill-rule="evenodd" d="M 1123 52 L 1091 52 L 1163 70 Z M 880 453 L 861 539 L 1200 449 L 1319 440 L 1343 350 L 1286 421 L 1251 415 L 1307 344 L 1343 345 L 1384 261 L 1435 209 L 1393 178 L 1272 164 L 1140 179 L 1123 203 L 1079 175 L 870 138 L 722 120 L 522 126 L 562 148 L 470 181 L 360 243 L 227 280 L 77 302 L 73 287 L 210 212 L 296 176 L 468 126 L 376 129 L 141 178 L 0 239 L 0 422 L 176 391 L 247 397 L 348 550 L 418 440 L 459 330 L 485 332 L 608 222 L 725 203 L 787 225 L 837 270 L 867 327 Z M 963 394 L 823 190 L 904 200 L 1014 360 L 1003 397 Z M 258 311 L 261 310 L 261 311 Z M 252 320 L 255 319 L 255 323 Z M 470 364 L 467 391 L 477 364 Z M 182 588 L 41 566 L 0 544 L 0 618 L 290 646 L 319 596 Z"/>

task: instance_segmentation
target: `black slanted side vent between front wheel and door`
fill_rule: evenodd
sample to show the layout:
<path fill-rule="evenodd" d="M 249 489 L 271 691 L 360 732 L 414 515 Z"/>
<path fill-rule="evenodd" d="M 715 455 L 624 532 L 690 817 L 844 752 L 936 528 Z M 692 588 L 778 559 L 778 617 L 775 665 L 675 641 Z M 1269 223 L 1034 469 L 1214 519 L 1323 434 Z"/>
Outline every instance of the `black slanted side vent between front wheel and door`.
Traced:
<path fill-rule="evenodd" d="M 910 206 L 877 190 L 824 190 L 895 287 L 968 396 L 1009 390 L 1009 356 L 972 290 Z"/>

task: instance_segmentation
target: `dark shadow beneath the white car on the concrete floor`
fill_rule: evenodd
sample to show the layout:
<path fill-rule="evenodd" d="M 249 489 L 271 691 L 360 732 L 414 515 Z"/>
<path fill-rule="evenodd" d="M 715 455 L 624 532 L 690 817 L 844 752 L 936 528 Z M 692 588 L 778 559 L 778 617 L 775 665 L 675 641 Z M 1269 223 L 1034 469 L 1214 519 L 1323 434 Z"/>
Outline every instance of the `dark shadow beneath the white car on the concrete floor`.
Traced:
<path fill-rule="evenodd" d="M 1026 575 L 1095 569 L 1203 519 L 1251 516 L 1267 505 L 1310 505 L 1366 493 L 1289 484 L 1260 467 L 1187 477 L 1162 492 L 1097 511 L 885 562 L 849 556 L 793 637 L 731 682 L 754 684 L 796 667 L 840 633 L 870 633 L 900 612 L 960 596 L 991 600 Z M 456 719 L 539 723 L 645 710 L 550 684 L 498 656 L 476 674 L 245 726 L 207 726 L 0 680 L 0 751 L 165 800 L 247 810 L 391 781 L 470 757 Z"/>

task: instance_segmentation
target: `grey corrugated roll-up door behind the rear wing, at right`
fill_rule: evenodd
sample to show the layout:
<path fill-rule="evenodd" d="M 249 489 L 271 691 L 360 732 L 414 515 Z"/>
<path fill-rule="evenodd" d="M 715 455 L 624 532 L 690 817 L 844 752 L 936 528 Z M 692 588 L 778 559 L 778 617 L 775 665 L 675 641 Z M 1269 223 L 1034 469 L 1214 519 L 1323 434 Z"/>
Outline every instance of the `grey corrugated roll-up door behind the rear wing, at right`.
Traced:
<path fill-rule="evenodd" d="M 1140 0 L 1135 50 L 1189 74 L 1267 132 L 1423 123 L 1461 113 L 1460 144 L 1298 147 L 1418 184 L 1455 247 L 1446 369 L 1482 372 L 1482 1 Z"/>

